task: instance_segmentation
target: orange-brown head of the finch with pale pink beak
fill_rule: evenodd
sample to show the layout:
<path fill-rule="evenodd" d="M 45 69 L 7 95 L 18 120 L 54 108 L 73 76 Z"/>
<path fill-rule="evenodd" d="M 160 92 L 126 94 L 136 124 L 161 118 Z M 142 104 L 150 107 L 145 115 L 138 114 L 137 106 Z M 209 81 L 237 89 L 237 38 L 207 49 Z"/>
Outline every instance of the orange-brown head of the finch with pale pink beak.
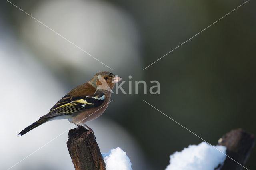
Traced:
<path fill-rule="evenodd" d="M 122 81 L 122 78 L 108 71 L 100 71 L 96 73 L 89 83 L 101 92 L 111 91 L 115 83 Z"/>

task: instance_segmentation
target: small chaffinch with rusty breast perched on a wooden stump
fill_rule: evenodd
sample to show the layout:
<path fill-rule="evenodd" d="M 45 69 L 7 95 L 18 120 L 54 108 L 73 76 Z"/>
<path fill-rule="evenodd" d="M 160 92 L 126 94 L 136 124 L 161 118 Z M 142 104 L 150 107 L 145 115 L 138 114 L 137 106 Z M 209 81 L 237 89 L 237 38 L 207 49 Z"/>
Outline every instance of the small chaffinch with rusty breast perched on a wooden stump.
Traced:
<path fill-rule="evenodd" d="M 90 132 L 94 134 L 85 123 L 102 115 L 110 102 L 114 84 L 119 81 L 122 81 L 121 77 L 108 71 L 96 73 L 88 82 L 68 92 L 50 109 L 49 113 L 24 128 L 18 135 L 22 136 L 39 125 L 56 119 L 68 119 L 78 128 L 87 127 L 87 134 Z"/>

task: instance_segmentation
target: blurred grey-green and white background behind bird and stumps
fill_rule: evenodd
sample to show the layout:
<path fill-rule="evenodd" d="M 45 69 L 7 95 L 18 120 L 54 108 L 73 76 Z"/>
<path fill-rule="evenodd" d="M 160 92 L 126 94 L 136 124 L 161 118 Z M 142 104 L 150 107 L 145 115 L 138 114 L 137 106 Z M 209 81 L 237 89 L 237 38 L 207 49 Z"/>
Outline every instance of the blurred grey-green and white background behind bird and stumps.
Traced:
<path fill-rule="evenodd" d="M 234 128 L 256 134 L 255 1 L 188 40 L 242 0 L 12 0 L 102 63 L 8 1 L 0 2 L 0 167 L 74 169 L 66 148 L 67 120 L 48 122 L 17 136 L 52 105 L 96 72 L 132 81 L 132 95 L 113 94 L 105 113 L 88 123 L 101 152 L 126 151 L 132 168 L 164 169 L 169 155 L 202 142 L 142 99 L 210 144 Z M 132 75 L 132 79 L 128 76 Z M 160 82 L 160 94 L 135 95 L 135 81 Z M 74 128 L 74 127 L 73 127 Z M 248 169 L 256 169 L 256 149 Z"/>

